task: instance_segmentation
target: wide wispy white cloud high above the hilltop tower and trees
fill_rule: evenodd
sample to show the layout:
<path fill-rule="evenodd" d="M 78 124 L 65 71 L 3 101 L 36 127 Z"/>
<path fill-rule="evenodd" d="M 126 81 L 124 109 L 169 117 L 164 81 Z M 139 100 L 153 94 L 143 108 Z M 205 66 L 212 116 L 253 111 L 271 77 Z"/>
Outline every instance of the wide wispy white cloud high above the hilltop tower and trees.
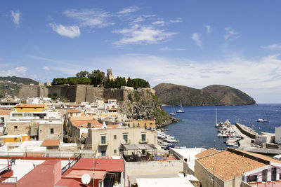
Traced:
<path fill-rule="evenodd" d="M 121 29 L 114 31 L 117 34 L 122 34 L 123 38 L 115 42 L 116 45 L 122 44 L 148 44 L 159 43 L 174 36 L 175 32 L 166 32 L 164 29 L 158 29 L 152 26 L 133 25 L 129 29 Z"/>

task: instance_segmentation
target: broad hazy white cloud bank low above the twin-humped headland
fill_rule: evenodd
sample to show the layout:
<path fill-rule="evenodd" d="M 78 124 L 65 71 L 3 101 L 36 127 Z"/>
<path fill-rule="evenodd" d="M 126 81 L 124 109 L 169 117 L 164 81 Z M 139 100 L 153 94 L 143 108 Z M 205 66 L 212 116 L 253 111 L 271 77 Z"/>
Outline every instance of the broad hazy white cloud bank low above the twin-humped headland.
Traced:
<path fill-rule="evenodd" d="M 204 62 L 153 55 L 122 55 L 101 62 L 106 60 L 115 62 L 110 64 L 113 74 L 145 78 L 152 86 L 163 82 L 200 89 L 213 84 L 229 85 L 247 92 L 258 102 L 273 95 L 271 90 L 281 93 L 281 60 L 278 55 L 255 61 L 231 57 Z M 275 97 L 275 101 L 278 98 Z"/>

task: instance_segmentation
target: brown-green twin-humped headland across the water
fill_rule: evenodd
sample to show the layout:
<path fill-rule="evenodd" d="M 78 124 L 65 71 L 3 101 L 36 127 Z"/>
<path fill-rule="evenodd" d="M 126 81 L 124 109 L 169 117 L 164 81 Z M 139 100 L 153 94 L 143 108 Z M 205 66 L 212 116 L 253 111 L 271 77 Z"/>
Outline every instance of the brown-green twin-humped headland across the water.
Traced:
<path fill-rule="evenodd" d="M 209 85 L 195 89 L 183 85 L 160 83 L 155 92 L 163 104 L 185 106 L 251 105 L 256 104 L 246 93 L 226 85 Z"/>

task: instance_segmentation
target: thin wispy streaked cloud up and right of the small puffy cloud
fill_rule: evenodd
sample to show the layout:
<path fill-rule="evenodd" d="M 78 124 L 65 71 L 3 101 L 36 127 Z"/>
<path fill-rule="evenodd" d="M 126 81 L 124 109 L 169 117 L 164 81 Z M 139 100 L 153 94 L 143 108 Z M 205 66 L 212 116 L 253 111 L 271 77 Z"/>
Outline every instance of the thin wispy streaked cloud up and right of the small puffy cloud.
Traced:
<path fill-rule="evenodd" d="M 93 9 L 84 9 L 78 11 L 75 9 L 67 10 L 64 14 L 69 18 L 77 20 L 78 24 L 82 27 L 107 27 L 108 25 L 114 25 L 110 22 L 109 18 L 112 15 L 107 11 L 98 11 Z"/>

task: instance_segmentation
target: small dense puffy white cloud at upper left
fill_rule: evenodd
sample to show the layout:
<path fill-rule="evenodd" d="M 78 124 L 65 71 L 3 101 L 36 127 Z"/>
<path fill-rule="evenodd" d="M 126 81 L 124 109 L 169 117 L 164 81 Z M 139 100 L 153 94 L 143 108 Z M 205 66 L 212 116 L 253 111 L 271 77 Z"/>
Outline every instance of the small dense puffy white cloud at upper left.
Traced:
<path fill-rule="evenodd" d="M 64 25 L 56 25 L 51 23 L 50 27 L 53 29 L 54 32 L 57 32 L 61 36 L 67 36 L 72 39 L 77 36 L 80 36 L 80 29 L 76 25 L 64 26 Z"/>

